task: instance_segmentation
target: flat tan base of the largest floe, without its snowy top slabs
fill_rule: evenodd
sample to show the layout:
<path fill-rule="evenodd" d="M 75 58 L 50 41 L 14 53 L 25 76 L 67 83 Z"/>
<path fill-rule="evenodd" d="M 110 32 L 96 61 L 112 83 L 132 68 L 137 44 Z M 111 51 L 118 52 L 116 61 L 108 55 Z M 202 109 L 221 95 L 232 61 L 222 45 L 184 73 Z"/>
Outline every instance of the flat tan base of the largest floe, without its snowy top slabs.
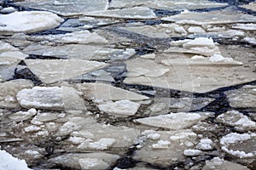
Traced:
<path fill-rule="evenodd" d="M 231 62 L 212 62 L 207 58 L 190 59 L 189 54 L 177 54 L 177 52 L 175 54 L 175 51 L 173 50 L 170 54 L 169 52 L 162 54 L 160 59 L 156 56 L 154 60 L 137 58 L 126 61 L 126 69 L 128 71 L 126 76 L 128 77 L 125 77 L 124 82 L 204 93 L 217 88 L 255 80 L 253 72 L 239 66 L 241 62 L 237 62 L 235 59 Z M 160 64 L 162 61 L 166 65 Z M 158 71 L 159 69 L 169 71 L 165 73 Z M 139 74 L 140 76 L 135 77 L 132 74 L 132 77 L 130 77 L 129 73 L 134 73 L 134 71 L 137 71 L 137 75 Z M 146 76 L 145 72 L 148 71 L 154 77 L 152 75 Z"/>

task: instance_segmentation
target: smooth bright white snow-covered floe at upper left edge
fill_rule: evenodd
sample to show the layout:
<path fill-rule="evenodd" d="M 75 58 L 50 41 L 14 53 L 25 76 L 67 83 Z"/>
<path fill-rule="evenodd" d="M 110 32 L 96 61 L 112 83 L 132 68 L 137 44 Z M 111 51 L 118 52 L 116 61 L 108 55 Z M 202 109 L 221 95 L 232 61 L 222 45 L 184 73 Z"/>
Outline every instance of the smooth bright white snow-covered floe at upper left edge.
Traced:
<path fill-rule="evenodd" d="M 59 26 L 58 15 L 44 11 L 24 11 L 0 15 L 0 34 L 44 31 Z"/>

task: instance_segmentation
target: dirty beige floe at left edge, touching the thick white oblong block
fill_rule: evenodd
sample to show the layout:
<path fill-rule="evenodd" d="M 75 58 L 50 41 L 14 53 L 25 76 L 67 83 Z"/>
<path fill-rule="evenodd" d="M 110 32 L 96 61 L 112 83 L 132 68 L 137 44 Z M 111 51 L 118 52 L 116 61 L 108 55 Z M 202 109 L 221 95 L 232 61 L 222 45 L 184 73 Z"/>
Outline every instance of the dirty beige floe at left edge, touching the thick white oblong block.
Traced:
<path fill-rule="evenodd" d="M 0 107 L 1 108 L 19 108 L 20 105 L 16 99 L 17 93 L 24 88 L 32 88 L 33 83 L 30 80 L 12 80 L 9 82 L 0 82 Z"/>

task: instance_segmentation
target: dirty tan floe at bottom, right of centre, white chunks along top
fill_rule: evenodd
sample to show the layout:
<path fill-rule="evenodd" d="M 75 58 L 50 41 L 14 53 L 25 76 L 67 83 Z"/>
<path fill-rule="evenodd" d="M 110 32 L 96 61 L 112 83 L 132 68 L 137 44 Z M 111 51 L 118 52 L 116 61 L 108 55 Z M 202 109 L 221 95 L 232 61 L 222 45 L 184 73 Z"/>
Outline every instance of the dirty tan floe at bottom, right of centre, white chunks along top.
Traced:
<path fill-rule="evenodd" d="M 197 141 L 197 135 L 191 130 L 156 131 L 156 133 L 160 134 L 160 138 L 143 141 L 143 147 L 135 152 L 133 157 L 135 160 L 168 167 L 173 162 L 183 160 L 183 151 L 189 150 L 189 147 L 195 145 Z"/>

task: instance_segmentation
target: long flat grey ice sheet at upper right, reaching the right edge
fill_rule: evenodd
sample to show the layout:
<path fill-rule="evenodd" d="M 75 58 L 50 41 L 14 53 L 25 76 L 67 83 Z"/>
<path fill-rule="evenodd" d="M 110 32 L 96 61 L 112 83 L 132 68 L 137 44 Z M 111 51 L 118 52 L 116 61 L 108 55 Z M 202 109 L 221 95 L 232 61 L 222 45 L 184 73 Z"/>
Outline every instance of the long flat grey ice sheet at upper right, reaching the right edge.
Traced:
<path fill-rule="evenodd" d="M 161 20 L 176 22 L 177 24 L 191 24 L 191 25 L 215 25 L 215 24 L 229 24 L 237 22 L 253 22 L 256 18 L 250 14 L 228 14 L 221 11 L 213 12 L 184 12 L 169 17 L 164 17 Z"/>

